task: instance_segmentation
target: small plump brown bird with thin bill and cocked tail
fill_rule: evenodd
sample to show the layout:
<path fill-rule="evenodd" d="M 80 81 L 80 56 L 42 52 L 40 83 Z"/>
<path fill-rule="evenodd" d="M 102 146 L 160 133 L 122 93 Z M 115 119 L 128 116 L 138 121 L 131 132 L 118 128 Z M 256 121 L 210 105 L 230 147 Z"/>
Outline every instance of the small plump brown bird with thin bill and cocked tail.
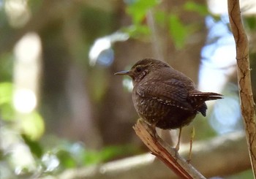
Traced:
<path fill-rule="evenodd" d="M 115 75 L 132 77 L 132 101 L 135 109 L 153 129 L 180 129 L 188 125 L 197 113 L 206 116 L 206 101 L 222 99 L 222 94 L 201 92 L 195 83 L 163 61 L 145 58 L 129 71 Z"/>

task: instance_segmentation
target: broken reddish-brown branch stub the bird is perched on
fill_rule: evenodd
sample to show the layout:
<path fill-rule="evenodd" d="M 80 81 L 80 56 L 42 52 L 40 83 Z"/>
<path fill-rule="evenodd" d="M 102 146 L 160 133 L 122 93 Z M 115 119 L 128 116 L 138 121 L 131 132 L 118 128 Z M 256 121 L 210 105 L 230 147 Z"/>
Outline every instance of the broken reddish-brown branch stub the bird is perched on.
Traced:
<path fill-rule="evenodd" d="M 155 137 L 147 123 L 138 120 L 134 129 L 151 153 L 162 160 L 176 175 L 181 178 L 205 178 L 184 158 L 179 156 L 174 148 L 170 148 L 160 137 Z"/>

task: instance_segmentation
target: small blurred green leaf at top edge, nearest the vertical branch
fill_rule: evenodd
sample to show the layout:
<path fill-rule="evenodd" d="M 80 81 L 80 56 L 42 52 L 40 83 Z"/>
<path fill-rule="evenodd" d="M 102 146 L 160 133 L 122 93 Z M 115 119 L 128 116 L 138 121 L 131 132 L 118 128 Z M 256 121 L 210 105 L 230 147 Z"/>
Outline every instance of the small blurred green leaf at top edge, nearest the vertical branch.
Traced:
<path fill-rule="evenodd" d="M 208 8 L 205 4 L 198 4 L 194 1 L 187 1 L 184 4 L 184 9 L 191 12 L 197 12 L 202 16 L 206 16 L 209 14 Z"/>

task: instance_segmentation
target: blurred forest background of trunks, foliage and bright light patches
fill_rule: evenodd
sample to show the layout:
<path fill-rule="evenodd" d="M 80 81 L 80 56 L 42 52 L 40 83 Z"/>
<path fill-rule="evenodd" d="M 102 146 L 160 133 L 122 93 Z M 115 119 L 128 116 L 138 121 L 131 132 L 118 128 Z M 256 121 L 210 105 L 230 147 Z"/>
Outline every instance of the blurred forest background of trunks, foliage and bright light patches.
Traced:
<path fill-rule="evenodd" d="M 255 1 L 241 4 L 252 69 L 255 9 Z M 207 117 L 197 115 L 181 142 L 192 126 L 195 140 L 244 130 L 227 1 L 0 0 L 0 178 L 55 176 L 148 152 L 132 129 L 131 80 L 113 75 L 146 57 L 225 95 L 207 103 Z M 175 143 L 176 131 L 166 133 Z M 252 172 L 227 178 L 238 176 Z"/>

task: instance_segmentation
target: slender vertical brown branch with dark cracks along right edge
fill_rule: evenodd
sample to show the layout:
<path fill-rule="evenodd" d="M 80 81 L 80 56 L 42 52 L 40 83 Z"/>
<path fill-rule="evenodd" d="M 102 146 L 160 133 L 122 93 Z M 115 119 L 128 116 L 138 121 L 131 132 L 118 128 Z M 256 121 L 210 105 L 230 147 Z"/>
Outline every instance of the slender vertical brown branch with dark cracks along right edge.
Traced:
<path fill-rule="evenodd" d="M 230 26 L 236 42 L 236 60 L 238 88 L 241 100 L 241 113 L 244 118 L 246 140 L 251 159 L 252 170 L 256 178 L 256 119 L 255 102 L 252 98 L 252 85 L 249 68 L 248 39 L 246 37 L 239 0 L 228 0 Z"/>

